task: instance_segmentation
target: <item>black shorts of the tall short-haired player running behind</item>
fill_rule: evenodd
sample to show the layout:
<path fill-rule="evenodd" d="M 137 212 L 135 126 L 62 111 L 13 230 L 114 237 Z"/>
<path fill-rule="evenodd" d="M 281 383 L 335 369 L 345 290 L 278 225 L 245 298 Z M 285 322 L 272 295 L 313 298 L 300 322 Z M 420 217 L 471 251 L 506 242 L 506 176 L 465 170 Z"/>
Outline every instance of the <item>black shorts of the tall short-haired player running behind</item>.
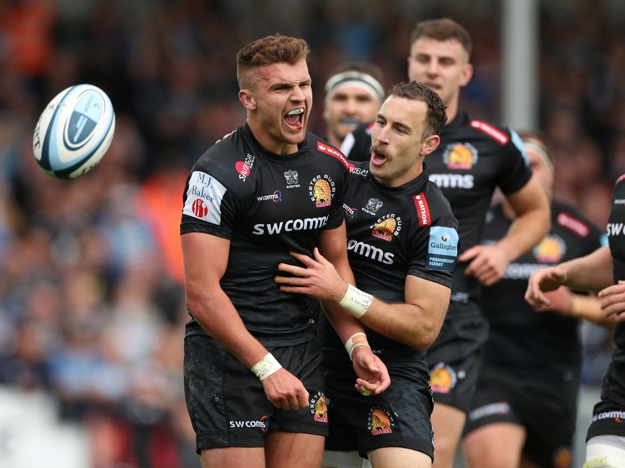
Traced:
<path fill-rule="evenodd" d="M 471 409 L 488 329 L 476 303 L 449 303 L 441 333 L 427 349 L 435 402 Z"/>

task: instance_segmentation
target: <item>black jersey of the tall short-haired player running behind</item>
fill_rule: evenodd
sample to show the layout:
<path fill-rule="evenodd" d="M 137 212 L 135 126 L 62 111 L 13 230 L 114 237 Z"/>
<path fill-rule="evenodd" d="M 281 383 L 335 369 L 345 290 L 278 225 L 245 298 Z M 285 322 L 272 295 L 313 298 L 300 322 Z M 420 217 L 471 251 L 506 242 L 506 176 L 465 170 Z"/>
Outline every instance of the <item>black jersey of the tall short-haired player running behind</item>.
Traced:
<path fill-rule="evenodd" d="M 346 154 L 350 160 L 371 159 L 370 126 L 370 123 L 361 124 L 354 130 L 354 143 Z M 494 188 L 498 186 L 506 194 L 514 193 L 529 181 L 532 173 L 515 132 L 495 127 L 462 109 L 444 127 L 440 137 L 437 149 L 426 156 L 429 178 L 441 187 L 458 220 L 462 253 L 479 243 Z M 479 281 L 464 275 L 467 265 L 459 263 L 454 270 L 452 301 L 479 296 Z"/>

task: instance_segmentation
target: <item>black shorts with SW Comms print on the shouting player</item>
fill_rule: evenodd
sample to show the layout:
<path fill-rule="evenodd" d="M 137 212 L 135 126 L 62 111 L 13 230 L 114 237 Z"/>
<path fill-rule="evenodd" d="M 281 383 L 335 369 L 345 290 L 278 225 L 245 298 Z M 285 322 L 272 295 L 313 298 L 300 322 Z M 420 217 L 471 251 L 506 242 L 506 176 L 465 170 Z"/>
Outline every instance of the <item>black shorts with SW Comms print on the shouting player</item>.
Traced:
<path fill-rule="evenodd" d="M 261 381 L 209 336 L 184 339 L 184 394 L 196 432 L 196 451 L 217 447 L 263 447 L 267 431 L 327 436 L 327 402 L 316 340 L 267 348 L 302 381 L 309 406 L 277 409 Z"/>

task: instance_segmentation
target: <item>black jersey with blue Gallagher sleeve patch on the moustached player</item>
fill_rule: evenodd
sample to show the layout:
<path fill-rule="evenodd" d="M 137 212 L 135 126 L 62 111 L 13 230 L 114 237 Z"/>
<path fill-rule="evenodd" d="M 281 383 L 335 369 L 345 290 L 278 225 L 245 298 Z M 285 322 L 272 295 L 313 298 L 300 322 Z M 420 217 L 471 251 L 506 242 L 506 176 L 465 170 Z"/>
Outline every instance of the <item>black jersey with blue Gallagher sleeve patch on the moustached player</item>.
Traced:
<path fill-rule="evenodd" d="M 377 182 L 369 163 L 355 163 L 351 172 L 344 209 L 347 255 L 356 286 L 390 303 L 406 301 L 407 275 L 451 288 L 457 222 L 441 190 L 428 180 L 427 165 L 419 177 L 400 187 Z M 320 327 L 325 348 L 343 348 L 325 316 Z M 371 329 L 366 333 L 372 349 L 406 348 Z"/>

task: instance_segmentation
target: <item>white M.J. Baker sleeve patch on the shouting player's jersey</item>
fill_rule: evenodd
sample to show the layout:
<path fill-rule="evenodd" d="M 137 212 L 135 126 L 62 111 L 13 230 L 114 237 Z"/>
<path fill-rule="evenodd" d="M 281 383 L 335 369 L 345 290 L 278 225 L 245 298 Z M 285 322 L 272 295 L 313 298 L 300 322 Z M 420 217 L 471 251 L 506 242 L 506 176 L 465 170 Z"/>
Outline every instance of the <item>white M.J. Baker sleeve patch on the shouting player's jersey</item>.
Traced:
<path fill-rule="evenodd" d="M 206 172 L 194 171 L 189 178 L 187 199 L 184 202 L 183 214 L 202 221 L 221 224 L 221 200 L 226 187 Z"/>

